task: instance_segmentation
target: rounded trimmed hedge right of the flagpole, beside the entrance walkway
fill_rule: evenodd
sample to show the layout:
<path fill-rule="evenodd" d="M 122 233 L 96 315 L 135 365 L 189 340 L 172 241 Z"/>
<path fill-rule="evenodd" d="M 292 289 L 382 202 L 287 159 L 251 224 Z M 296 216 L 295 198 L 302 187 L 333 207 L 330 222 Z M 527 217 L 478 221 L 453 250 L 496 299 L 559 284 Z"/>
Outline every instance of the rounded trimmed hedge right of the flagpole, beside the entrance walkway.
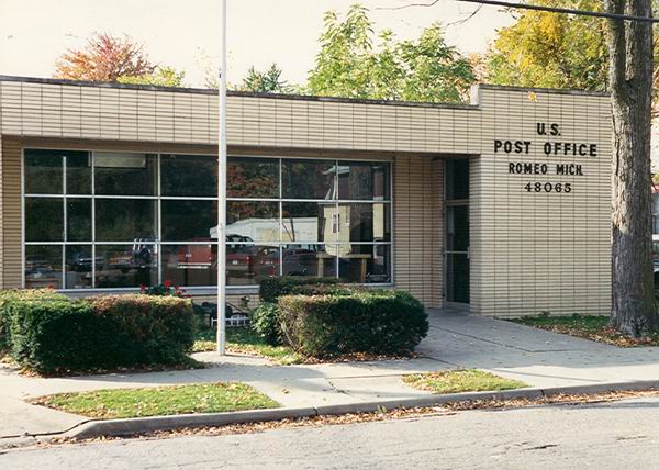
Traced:
<path fill-rule="evenodd" d="M 423 304 L 403 291 L 286 295 L 278 306 L 286 342 L 313 357 L 405 354 L 414 350 L 428 331 Z"/>

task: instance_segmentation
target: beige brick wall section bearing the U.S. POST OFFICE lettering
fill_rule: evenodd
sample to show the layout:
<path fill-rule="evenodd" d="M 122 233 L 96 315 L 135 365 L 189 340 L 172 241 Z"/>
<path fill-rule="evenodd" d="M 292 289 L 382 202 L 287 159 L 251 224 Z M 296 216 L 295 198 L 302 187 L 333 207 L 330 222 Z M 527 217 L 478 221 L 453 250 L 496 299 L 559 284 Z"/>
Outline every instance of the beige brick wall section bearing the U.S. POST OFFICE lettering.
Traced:
<path fill-rule="evenodd" d="M 472 307 L 487 315 L 607 313 L 611 282 L 611 127 L 602 96 L 481 90 L 482 152 L 472 165 Z M 560 135 L 537 134 L 557 123 Z M 494 139 L 532 142 L 528 155 L 493 152 Z M 547 156 L 549 142 L 588 143 L 596 157 Z M 578 164 L 583 176 L 509 175 L 515 161 Z M 532 182 L 534 191 L 524 187 Z M 572 191 L 535 192 L 535 182 Z"/>

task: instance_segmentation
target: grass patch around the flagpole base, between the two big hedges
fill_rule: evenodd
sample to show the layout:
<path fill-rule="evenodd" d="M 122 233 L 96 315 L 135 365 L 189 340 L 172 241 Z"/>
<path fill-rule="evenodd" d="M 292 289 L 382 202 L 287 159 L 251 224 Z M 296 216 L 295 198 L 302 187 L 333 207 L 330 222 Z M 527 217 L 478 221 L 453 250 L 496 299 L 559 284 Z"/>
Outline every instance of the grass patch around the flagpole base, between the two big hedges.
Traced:
<path fill-rule="evenodd" d="M 208 328 L 199 332 L 192 350 L 194 352 L 214 351 L 215 331 Z M 292 348 L 271 346 L 246 327 L 226 328 L 226 350 L 265 357 L 282 366 L 304 362 L 304 357 Z"/>

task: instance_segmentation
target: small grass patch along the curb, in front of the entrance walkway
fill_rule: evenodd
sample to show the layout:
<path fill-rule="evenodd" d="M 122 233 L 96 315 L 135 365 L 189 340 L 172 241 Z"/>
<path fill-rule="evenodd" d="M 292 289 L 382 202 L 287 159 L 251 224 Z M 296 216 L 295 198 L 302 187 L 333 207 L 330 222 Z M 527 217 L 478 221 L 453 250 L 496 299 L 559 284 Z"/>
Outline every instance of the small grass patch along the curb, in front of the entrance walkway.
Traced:
<path fill-rule="evenodd" d="M 478 369 L 414 373 L 404 376 L 403 382 L 434 393 L 491 392 L 528 387 L 518 380 L 504 379 Z"/>

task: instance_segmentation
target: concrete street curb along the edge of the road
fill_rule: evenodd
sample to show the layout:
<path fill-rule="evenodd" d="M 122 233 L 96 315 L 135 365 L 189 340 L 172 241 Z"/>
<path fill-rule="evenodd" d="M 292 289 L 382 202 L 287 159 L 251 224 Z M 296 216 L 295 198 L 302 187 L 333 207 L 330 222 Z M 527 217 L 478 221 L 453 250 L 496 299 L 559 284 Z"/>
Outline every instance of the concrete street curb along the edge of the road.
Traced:
<path fill-rule="evenodd" d="M 171 430 L 182 427 L 223 426 L 241 423 L 265 423 L 269 421 L 295 419 L 323 415 L 347 413 L 372 413 L 381 410 L 403 407 L 427 407 L 447 403 L 478 401 L 503 401 L 514 399 L 540 399 L 561 394 L 594 394 L 616 391 L 659 390 L 659 380 L 639 380 L 634 382 L 610 382 L 588 385 L 567 385 L 507 390 L 501 392 L 467 392 L 444 395 L 427 395 L 413 399 L 381 400 L 373 402 L 323 405 L 316 407 L 283 407 L 273 410 L 254 410 L 227 413 L 200 413 L 174 416 L 154 416 L 126 419 L 88 421 L 63 434 L 64 437 L 90 439 L 101 436 L 129 436 Z"/>

